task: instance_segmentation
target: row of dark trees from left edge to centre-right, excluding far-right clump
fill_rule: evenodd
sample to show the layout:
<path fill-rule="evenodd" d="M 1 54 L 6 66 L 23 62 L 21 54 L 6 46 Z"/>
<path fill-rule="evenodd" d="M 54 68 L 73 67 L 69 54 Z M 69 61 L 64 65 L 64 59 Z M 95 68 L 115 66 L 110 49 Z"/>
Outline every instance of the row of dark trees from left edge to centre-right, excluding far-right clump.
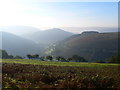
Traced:
<path fill-rule="evenodd" d="M 8 55 L 8 53 L 5 50 L 0 50 L 1 52 L 1 58 L 2 59 L 24 59 L 25 57 L 21 57 L 21 56 L 13 56 L 13 55 Z M 28 54 L 26 55 L 26 57 L 28 59 L 39 59 L 42 61 L 60 61 L 60 62 L 87 62 L 87 60 L 79 55 L 73 55 L 70 58 L 65 58 L 63 56 L 39 56 L 38 54 Z"/>

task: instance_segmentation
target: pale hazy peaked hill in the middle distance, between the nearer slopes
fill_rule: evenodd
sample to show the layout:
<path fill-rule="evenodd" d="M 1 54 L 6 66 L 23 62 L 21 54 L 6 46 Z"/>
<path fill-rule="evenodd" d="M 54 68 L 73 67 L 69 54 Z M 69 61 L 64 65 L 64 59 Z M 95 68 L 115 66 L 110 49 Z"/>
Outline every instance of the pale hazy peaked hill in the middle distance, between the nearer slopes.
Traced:
<path fill-rule="evenodd" d="M 42 44 L 43 46 L 48 46 L 52 43 L 64 40 L 72 35 L 73 33 L 66 32 L 59 28 L 53 28 L 45 31 L 38 31 L 32 34 L 27 34 L 24 35 L 24 37 L 38 44 Z"/>

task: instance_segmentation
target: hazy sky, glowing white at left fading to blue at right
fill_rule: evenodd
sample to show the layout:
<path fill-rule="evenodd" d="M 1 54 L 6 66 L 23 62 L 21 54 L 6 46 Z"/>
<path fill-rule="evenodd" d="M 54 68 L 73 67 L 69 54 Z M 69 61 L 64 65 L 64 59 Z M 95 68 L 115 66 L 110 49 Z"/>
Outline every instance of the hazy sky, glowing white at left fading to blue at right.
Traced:
<path fill-rule="evenodd" d="M 117 27 L 117 2 L 1 0 L 0 26 Z"/>

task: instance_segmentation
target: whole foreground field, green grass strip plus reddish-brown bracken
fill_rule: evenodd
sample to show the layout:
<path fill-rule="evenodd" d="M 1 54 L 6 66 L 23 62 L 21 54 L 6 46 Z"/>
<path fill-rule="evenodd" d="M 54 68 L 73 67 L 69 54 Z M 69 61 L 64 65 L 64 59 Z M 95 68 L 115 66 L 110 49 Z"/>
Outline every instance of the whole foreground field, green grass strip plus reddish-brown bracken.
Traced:
<path fill-rule="evenodd" d="M 120 64 L 2 60 L 3 88 L 120 88 Z"/>

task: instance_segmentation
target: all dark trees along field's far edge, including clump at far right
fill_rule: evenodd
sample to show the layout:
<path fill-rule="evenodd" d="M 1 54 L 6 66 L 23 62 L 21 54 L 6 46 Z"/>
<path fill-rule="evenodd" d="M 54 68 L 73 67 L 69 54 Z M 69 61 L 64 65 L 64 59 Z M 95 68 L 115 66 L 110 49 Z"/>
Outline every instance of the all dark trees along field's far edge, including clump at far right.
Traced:
<path fill-rule="evenodd" d="M 38 59 L 42 61 L 60 61 L 60 62 L 88 62 L 84 57 L 81 57 L 79 55 L 73 55 L 72 57 L 65 58 L 63 56 L 39 56 L 38 54 L 28 54 L 26 55 L 28 59 Z M 25 59 L 25 57 L 21 56 L 13 56 L 9 55 L 5 50 L 0 50 L 0 58 L 2 59 Z M 106 61 L 97 61 L 97 63 L 120 63 L 120 53 L 117 53 L 116 55 L 113 55 L 112 57 L 108 58 Z"/>

